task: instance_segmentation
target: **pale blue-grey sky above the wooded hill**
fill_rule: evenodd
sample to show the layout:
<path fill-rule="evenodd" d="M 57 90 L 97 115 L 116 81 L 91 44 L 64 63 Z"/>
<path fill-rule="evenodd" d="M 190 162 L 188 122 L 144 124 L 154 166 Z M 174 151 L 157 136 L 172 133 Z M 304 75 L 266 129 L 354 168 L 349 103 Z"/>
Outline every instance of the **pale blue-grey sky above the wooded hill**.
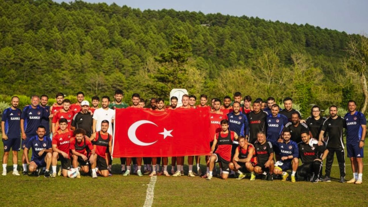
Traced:
<path fill-rule="evenodd" d="M 63 0 L 54 0 L 58 3 Z M 64 0 L 65 1 L 65 0 Z M 65 2 L 69 2 L 67 0 Z M 90 3 L 115 2 L 132 8 L 177 11 L 201 11 L 233 16 L 259 17 L 265 20 L 310 24 L 345 31 L 368 33 L 368 0 L 84 0 Z"/>

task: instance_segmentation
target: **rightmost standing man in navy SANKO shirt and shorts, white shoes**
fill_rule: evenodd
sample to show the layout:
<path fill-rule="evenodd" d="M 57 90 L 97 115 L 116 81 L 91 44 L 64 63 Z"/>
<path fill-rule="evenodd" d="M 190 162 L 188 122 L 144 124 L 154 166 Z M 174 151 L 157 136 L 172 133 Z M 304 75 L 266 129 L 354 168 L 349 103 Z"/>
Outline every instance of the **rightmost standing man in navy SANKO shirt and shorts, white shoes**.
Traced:
<path fill-rule="evenodd" d="M 349 112 L 344 116 L 346 121 L 346 148 L 350 158 L 353 179 L 347 183 L 362 184 L 363 175 L 363 146 L 367 132 L 367 120 L 363 113 L 358 112 L 355 101 L 348 101 Z"/>

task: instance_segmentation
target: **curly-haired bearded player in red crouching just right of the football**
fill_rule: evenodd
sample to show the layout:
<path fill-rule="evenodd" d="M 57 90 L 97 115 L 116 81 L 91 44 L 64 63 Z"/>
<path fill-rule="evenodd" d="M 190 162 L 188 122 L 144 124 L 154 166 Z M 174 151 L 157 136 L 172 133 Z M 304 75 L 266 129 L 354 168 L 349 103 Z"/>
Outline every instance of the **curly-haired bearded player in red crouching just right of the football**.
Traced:
<path fill-rule="evenodd" d="M 93 164 L 95 161 L 95 149 L 93 148 L 91 141 L 89 141 L 88 138 L 85 138 L 86 131 L 84 129 L 76 129 L 73 132 L 73 135 L 74 137 L 70 139 L 70 151 L 73 158 L 72 165 L 77 171 L 77 178 L 81 178 L 81 174 L 78 169 L 78 162 L 81 165 L 81 170 L 84 173 L 88 173 L 89 164 Z"/>

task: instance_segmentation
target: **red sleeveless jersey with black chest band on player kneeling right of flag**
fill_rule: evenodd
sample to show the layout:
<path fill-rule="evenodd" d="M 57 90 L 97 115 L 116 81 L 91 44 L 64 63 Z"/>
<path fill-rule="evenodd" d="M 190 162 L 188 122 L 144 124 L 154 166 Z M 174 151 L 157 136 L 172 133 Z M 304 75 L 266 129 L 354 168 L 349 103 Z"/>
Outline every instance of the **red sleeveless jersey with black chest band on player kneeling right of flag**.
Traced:
<path fill-rule="evenodd" d="M 216 154 L 220 155 L 226 161 L 231 161 L 231 147 L 233 147 L 234 131 L 226 134 L 217 133 L 217 150 Z"/>

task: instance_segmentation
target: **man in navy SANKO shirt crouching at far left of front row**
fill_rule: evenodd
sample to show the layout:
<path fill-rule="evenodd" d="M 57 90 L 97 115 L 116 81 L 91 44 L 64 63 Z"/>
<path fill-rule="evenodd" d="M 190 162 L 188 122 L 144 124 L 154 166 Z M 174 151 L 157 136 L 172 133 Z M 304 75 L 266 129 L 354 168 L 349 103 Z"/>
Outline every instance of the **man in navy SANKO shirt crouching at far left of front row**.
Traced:
<path fill-rule="evenodd" d="M 52 159 L 52 145 L 51 140 L 45 136 L 46 129 L 44 126 L 37 128 L 37 136 L 31 137 L 25 145 L 23 154 L 28 166 L 28 172 L 39 177 L 40 168 L 46 167 L 45 178 L 50 177 L 49 168 Z M 28 151 L 32 148 L 32 161 L 29 162 Z"/>

